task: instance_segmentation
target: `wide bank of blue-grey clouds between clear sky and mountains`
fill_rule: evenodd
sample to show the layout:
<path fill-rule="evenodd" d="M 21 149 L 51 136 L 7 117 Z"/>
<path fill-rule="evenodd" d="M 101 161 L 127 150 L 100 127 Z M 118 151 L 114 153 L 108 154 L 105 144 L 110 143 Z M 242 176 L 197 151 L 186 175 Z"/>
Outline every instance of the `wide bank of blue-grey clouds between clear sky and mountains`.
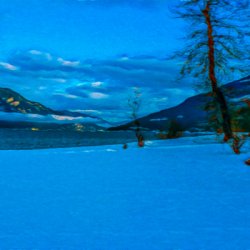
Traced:
<path fill-rule="evenodd" d="M 153 56 L 79 60 L 29 50 L 13 54 L 1 67 L 1 86 L 30 100 L 54 109 L 100 110 L 103 115 L 120 109 L 123 120 L 133 87 L 143 93 L 142 114 L 173 106 L 191 95 L 186 83 L 176 84 L 177 63 Z"/>

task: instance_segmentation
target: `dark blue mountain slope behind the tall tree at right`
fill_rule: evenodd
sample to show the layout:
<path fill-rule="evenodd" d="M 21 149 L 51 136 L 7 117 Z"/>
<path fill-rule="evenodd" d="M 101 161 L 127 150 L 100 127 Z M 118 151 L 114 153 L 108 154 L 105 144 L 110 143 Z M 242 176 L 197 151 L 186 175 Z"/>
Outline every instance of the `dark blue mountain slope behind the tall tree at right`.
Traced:
<path fill-rule="evenodd" d="M 221 87 L 230 108 L 245 109 L 249 113 L 246 100 L 250 99 L 250 76 L 233 81 Z M 209 130 L 208 121 L 211 112 L 205 110 L 212 101 L 211 93 L 203 93 L 186 99 L 181 104 L 161 110 L 138 119 L 140 126 L 149 130 L 166 130 L 170 122 L 175 122 L 183 130 Z M 244 102 L 245 101 L 245 102 Z M 110 130 L 127 130 L 133 128 L 134 121 L 112 127 Z"/>

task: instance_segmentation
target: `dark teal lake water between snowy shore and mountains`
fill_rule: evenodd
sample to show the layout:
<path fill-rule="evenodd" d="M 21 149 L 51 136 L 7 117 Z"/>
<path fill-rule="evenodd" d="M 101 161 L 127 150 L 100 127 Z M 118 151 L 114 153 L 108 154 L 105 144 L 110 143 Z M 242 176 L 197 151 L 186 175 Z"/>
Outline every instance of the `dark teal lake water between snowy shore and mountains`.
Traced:
<path fill-rule="evenodd" d="M 152 132 L 145 132 L 144 134 L 147 140 L 156 139 Z M 136 141 L 136 137 L 133 131 L 77 132 L 0 129 L 0 150 L 98 146 L 134 141 Z"/>

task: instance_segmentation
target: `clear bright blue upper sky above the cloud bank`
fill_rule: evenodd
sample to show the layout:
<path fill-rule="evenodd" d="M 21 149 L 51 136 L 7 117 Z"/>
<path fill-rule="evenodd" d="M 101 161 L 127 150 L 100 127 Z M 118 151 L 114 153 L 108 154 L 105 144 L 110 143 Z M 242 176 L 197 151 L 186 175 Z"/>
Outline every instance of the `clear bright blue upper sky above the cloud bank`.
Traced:
<path fill-rule="evenodd" d="M 168 13 L 171 1 L 1 2 L 4 55 L 32 48 L 73 58 L 103 58 L 124 53 L 164 54 L 176 47 L 178 28 Z"/>

